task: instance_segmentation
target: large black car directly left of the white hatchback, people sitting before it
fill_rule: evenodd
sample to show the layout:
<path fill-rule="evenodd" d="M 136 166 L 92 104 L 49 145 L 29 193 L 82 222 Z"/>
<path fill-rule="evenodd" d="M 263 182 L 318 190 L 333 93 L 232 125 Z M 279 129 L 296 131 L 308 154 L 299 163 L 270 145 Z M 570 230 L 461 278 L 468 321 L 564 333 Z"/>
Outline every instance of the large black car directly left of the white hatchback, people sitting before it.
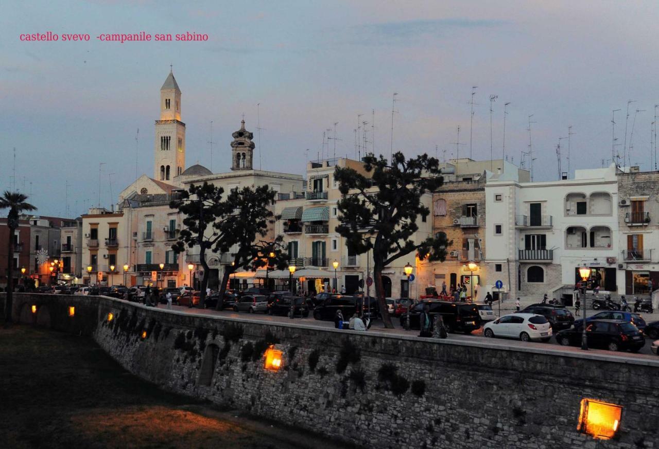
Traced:
<path fill-rule="evenodd" d="M 430 319 L 434 319 L 434 315 L 438 313 L 442 315 L 444 325 L 448 328 L 449 332 L 465 332 L 471 333 L 473 330 L 480 328 L 480 315 L 478 308 L 475 304 L 467 304 L 465 302 L 447 302 L 438 300 L 422 300 L 409 312 L 401 315 L 401 326 L 407 326 L 407 317 L 409 315 L 409 328 L 419 328 L 419 315 L 423 310 L 425 304 L 430 306 L 428 313 Z"/>

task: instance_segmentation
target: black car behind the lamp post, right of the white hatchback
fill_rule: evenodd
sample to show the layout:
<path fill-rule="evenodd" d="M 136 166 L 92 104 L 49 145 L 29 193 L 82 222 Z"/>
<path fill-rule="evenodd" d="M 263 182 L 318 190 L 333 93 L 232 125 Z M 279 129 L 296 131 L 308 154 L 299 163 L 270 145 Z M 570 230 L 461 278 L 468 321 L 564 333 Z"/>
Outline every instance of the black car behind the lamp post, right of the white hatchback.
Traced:
<path fill-rule="evenodd" d="M 581 325 L 561 330 L 556 334 L 556 341 L 563 346 L 579 346 L 582 330 Z M 645 338 L 635 325 L 613 319 L 595 319 L 586 323 L 586 338 L 589 347 L 610 351 L 639 352 L 645 345 Z"/>

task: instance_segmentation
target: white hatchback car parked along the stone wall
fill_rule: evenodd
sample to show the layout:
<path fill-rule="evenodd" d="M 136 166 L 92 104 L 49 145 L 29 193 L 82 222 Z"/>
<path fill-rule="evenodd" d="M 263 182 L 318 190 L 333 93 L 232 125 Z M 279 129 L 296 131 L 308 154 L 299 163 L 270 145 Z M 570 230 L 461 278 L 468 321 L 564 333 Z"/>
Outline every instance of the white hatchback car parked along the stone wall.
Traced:
<path fill-rule="evenodd" d="M 483 335 L 492 337 L 519 338 L 523 342 L 552 338 L 552 325 L 542 315 L 534 313 L 511 313 L 490 321 L 483 327 Z"/>

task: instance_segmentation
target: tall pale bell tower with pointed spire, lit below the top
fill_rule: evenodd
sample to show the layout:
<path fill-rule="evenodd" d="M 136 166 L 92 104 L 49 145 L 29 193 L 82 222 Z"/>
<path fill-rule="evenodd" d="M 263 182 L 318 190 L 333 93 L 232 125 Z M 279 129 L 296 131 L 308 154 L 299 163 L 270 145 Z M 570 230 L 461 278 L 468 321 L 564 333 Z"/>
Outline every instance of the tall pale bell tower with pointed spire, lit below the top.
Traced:
<path fill-rule="evenodd" d="M 154 179 L 170 181 L 185 170 L 185 123 L 181 122 L 181 90 L 169 70 L 160 88 L 160 120 L 156 120 Z"/>

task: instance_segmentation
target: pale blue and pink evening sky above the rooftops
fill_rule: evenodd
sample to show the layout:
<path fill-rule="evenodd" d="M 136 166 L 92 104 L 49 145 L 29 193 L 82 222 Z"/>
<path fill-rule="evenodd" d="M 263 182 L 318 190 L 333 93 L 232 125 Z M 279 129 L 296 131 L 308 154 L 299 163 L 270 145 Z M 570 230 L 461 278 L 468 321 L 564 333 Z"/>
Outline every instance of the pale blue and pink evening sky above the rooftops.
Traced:
<path fill-rule="evenodd" d="M 30 193 L 43 215 L 72 217 L 101 204 L 135 176 L 152 175 L 159 88 L 170 63 L 183 92 L 186 165 L 228 171 L 231 132 L 244 113 L 262 147 L 263 169 L 304 172 L 323 132 L 337 124 L 337 155 L 355 157 L 357 115 L 376 153 L 389 155 L 391 95 L 397 92 L 393 147 L 407 155 L 469 154 L 505 147 L 519 164 L 533 115 L 534 177 L 558 178 L 556 144 L 571 136 L 572 171 L 601 167 L 612 154 L 616 113 L 620 153 L 629 107 L 631 163 L 650 168 L 654 105 L 659 104 L 656 1 L 13 1 L 0 14 L 0 188 Z M 20 34 L 88 33 L 84 42 L 25 42 Z M 103 33 L 197 32 L 206 42 L 101 42 Z M 256 138 L 260 103 L 261 142 Z M 637 113 L 636 111 L 639 110 Z M 633 120 L 635 122 L 633 122 Z M 631 135 L 633 126 L 633 136 Z M 333 132 L 331 133 L 333 134 Z M 631 142 L 631 145 L 630 145 Z M 329 155 L 334 142 L 330 141 Z M 563 171 L 567 169 L 567 140 Z M 607 161 L 608 159 L 608 161 Z M 654 165 L 654 163 L 652 164 Z M 114 173 L 111 177 L 109 174 Z M 31 184 L 31 186 L 30 186 Z"/>

